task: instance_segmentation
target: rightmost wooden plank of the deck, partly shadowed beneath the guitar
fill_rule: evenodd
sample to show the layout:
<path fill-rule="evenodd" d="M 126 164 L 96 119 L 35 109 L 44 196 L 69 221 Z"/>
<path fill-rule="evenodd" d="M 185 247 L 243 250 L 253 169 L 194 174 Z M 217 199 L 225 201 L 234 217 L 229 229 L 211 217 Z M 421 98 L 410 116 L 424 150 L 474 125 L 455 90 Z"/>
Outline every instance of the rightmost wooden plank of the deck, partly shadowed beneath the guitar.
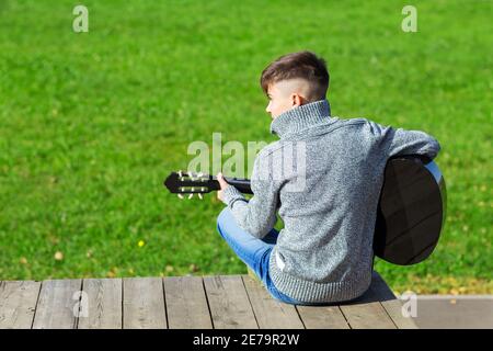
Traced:
<path fill-rule="evenodd" d="M 402 303 L 395 297 L 390 287 L 377 272 L 374 272 L 370 290 L 399 329 L 417 329 L 412 317 L 404 317 Z"/>

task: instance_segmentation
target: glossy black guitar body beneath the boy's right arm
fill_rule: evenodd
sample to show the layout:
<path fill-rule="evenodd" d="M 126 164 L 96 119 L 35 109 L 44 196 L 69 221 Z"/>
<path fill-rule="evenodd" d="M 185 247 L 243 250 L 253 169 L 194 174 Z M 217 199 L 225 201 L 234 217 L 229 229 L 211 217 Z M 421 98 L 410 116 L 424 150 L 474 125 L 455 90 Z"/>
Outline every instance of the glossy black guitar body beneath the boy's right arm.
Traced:
<path fill-rule="evenodd" d="M 425 260 L 445 223 L 447 191 L 435 162 L 414 157 L 390 159 L 375 226 L 375 254 L 401 265 Z"/>

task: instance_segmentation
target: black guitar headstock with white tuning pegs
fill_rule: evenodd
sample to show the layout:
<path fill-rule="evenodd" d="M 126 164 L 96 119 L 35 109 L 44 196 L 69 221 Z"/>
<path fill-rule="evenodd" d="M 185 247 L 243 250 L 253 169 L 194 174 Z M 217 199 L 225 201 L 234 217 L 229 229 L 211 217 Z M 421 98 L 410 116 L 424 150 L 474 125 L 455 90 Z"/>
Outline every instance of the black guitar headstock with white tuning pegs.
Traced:
<path fill-rule="evenodd" d="M 164 180 L 164 186 L 180 199 L 184 199 L 184 195 L 192 199 L 197 194 L 202 200 L 202 194 L 218 190 L 217 181 L 211 176 L 185 171 L 171 172 Z"/>

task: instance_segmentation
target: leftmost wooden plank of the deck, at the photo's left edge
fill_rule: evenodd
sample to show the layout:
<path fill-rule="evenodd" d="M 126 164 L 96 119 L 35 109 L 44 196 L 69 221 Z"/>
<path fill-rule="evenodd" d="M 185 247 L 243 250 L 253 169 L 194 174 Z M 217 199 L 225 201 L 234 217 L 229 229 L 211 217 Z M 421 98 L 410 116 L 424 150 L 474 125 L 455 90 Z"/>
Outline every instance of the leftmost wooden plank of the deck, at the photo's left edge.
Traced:
<path fill-rule="evenodd" d="M 41 282 L 0 282 L 0 329 L 31 329 Z"/>

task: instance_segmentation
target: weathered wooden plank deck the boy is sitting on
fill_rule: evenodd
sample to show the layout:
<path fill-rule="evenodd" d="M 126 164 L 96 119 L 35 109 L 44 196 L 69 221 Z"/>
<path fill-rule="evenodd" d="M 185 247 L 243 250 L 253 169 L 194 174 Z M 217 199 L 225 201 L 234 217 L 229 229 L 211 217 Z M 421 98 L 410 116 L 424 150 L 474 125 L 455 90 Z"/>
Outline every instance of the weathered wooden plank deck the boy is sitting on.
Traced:
<path fill-rule="evenodd" d="M 0 328 L 357 329 L 415 325 L 402 316 L 400 301 L 375 273 L 370 290 L 357 302 L 323 307 L 279 303 L 249 275 L 2 281 Z"/>

